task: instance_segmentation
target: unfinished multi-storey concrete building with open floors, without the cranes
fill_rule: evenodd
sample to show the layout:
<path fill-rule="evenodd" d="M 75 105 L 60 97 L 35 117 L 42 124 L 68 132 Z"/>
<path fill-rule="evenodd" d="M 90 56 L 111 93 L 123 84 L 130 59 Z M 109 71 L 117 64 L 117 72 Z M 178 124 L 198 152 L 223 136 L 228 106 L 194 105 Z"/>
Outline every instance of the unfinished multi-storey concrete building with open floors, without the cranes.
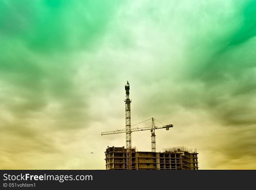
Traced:
<path fill-rule="evenodd" d="M 179 150 L 179 151 L 178 151 Z M 140 152 L 131 150 L 132 169 L 198 169 L 196 151 L 186 149 L 164 150 L 163 152 Z M 106 149 L 106 169 L 126 169 L 125 147 L 109 147 Z"/>

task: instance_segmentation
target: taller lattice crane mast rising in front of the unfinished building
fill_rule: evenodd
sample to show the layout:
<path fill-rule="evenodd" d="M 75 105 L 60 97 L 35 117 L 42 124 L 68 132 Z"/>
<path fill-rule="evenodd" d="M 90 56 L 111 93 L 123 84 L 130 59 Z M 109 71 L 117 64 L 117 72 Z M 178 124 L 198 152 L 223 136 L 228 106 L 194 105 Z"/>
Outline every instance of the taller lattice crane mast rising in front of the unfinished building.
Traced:
<path fill-rule="evenodd" d="M 131 100 L 129 98 L 130 85 L 127 81 L 125 85 L 126 99 L 125 99 L 125 132 L 126 132 L 126 166 L 131 169 Z"/>

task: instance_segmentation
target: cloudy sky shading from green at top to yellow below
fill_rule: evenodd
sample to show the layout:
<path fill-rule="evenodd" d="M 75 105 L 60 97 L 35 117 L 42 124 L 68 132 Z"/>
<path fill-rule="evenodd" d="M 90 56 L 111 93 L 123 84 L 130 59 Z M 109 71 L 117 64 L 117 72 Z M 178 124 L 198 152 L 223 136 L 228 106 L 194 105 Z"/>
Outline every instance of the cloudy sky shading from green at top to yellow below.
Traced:
<path fill-rule="evenodd" d="M 0 169 L 105 169 L 127 80 L 132 125 L 174 125 L 157 151 L 256 169 L 256 1 L 1 0 L 0 42 Z"/>

